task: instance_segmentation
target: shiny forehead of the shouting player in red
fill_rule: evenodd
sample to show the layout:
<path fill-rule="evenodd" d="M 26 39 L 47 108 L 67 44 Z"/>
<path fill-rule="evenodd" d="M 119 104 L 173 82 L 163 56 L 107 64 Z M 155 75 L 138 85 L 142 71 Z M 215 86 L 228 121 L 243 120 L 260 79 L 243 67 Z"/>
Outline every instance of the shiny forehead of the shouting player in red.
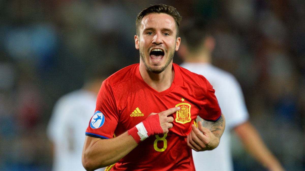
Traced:
<path fill-rule="evenodd" d="M 141 29 L 170 29 L 176 31 L 176 22 L 174 18 L 165 13 L 151 13 L 144 16 L 141 21 Z"/>

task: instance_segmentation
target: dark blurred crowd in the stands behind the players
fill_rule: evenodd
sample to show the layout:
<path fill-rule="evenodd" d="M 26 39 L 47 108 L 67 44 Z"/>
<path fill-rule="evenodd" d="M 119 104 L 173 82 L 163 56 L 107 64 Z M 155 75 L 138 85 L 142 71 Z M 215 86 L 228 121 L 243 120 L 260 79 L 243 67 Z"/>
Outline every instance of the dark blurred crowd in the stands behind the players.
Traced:
<path fill-rule="evenodd" d="M 181 27 L 209 25 L 212 63 L 240 82 L 250 121 L 285 169 L 305 170 L 303 0 L 0 0 L 0 170 L 51 169 L 54 103 L 87 68 L 138 63 L 136 16 L 159 3 L 178 9 Z M 264 169 L 238 139 L 232 149 L 236 170 Z"/>

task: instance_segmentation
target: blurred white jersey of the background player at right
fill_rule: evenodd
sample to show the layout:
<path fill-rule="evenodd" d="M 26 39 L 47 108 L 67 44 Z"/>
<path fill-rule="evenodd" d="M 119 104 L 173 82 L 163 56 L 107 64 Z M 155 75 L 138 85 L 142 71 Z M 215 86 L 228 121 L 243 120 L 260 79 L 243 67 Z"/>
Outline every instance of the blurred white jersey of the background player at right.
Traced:
<path fill-rule="evenodd" d="M 208 79 L 215 89 L 215 95 L 226 120 L 226 129 L 217 148 L 204 152 L 193 151 L 196 170 L 234 170 L 230 131 L 249 118 L 239 83 L 231 73 L 211 64 L 183 63 L 180 66 Z"/>

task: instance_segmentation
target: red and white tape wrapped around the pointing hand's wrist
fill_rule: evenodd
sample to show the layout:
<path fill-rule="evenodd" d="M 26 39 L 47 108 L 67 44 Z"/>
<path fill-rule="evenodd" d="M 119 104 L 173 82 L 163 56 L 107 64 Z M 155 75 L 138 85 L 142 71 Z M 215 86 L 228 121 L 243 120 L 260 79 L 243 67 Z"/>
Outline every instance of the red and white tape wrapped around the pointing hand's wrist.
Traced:
<path fill-rule="evenodd" d="M 160 126 L 159 115 L 151 115 L 145 120 L 128 130 L 128 135 L 131 135 L 139 144 L 151 135 L 162 134 L 163 129 Z"/>

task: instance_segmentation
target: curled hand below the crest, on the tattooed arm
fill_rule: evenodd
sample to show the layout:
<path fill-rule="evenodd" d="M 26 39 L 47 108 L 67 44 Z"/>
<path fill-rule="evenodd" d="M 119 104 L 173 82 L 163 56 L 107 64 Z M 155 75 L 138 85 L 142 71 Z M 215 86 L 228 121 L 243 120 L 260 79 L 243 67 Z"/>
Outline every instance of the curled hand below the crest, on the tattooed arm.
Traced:
<path fill-rule="evenodd" d="M 216 148 L 220 139 L 217 138 L 209 129 L 203 127 L 201 122 L 198 122 L 198 128 L 192 124 L 192 131 L 186 138 L 188 146 L 196 152 L 213 150 Z"/>

